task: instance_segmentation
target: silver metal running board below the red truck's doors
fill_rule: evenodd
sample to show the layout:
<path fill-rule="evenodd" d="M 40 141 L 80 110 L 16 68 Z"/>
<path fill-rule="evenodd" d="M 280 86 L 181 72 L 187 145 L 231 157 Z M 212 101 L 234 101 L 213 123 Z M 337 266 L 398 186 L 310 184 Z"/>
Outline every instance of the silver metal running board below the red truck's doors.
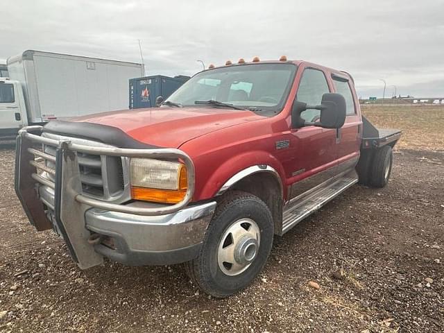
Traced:
<path fill-rule="evenodd" d="M 282 216 L 282 234 L 289 231 L 300 221 L 316 212 L 316 210 L 336 198 L 336 196 L 339 196 L 345 189 L 348 189 L 348 187 L 357 182 L 357 173 L 352 171 L 334 182 L 325 185 L 325 187 L 314 191 L 309 194 L 309 196 L 285 205 Z"/>

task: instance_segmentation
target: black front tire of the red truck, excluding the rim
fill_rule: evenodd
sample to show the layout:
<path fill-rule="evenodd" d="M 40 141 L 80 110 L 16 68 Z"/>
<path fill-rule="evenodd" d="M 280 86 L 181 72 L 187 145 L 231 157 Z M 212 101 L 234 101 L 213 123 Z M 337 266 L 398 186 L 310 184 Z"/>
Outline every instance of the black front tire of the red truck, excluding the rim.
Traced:
<path fill-rule="evenodd" d="M 260 242 L 253 262 L 238 275 L 225 274 L 219 267 L 218 250 L 223 234 L 236 221 L 251 219 L 260 230 Z M 205 293 L 217 298 L 230 296 L 252 282 L 262 270 L 273 245 L 273 218 L 266 204 L 242 191 L 230 191 L 219 201 L 196 259 L 185 263 L 191 280 Z"/>

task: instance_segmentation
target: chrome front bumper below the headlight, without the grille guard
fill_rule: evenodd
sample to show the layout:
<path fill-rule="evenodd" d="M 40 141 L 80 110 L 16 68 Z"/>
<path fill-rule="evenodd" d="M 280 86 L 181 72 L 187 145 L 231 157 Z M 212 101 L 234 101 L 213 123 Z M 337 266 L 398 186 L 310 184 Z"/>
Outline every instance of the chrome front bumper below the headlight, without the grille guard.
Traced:
<path fill-rule="evenodd" d="M 92 208 L 86 228 L 112 239 L 114 248 L 97 244 L 97 253 L 131 266 L 187 262 L 196 257 L 216 203 L 192 205 L 176 213 L 140 216 Z"/>

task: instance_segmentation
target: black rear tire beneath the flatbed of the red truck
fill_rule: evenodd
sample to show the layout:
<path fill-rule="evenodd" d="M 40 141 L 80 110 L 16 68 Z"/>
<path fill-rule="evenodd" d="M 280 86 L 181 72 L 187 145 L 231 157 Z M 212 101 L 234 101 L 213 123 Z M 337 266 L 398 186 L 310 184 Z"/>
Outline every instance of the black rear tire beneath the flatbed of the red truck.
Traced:
<path fill-rule="evenodd" d="M 384 187 L 390 178 L 393 163 L 393 151 L 391 146 L 383 146 L 375 151 L 370 169 L 370 185 Z"/>

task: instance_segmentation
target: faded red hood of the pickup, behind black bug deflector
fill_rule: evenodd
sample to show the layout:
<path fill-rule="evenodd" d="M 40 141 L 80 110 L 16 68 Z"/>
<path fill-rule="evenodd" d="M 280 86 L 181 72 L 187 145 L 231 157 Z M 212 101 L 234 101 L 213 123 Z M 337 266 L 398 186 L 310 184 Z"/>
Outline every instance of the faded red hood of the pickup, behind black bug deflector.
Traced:
<path fill-rule="evenodd" d="M 178 148 L 185 142 L 239 123 L 264 117 L 249 110 L 224 108 L 146 108 L 92 114 L 73 119 L 119 128 L 139 142 Z"/>

